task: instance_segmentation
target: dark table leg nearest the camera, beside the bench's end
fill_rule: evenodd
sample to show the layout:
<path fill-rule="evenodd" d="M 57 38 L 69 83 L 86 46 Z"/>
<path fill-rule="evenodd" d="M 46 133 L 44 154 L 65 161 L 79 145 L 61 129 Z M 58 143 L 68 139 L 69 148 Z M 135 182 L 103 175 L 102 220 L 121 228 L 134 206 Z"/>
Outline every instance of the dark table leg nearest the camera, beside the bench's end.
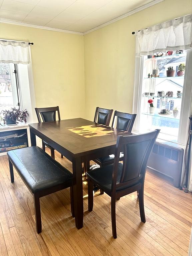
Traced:
<path fill-rule="evenodd" d="M 81 158 L 73 160 L 74 176 L 74 206 L 75 206 L 75 225 L 78 229 L 83 227 L 83 184 L 82 184 L 82 162 Z"/>

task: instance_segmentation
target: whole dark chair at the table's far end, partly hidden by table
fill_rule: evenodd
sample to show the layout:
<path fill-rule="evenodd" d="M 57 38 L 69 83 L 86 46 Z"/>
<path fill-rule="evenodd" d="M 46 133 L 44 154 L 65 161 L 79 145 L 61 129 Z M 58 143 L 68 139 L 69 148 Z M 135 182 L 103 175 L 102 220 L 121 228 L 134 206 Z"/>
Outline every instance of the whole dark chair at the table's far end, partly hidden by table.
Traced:
<path fill-rule="evenodd" d="M 49 108 L 35 108 L 35 112 L 37 114 L 38 122 L 53 122 L 56 121 L 56 111 L 58 114 L 58 120 L 60 121 L 60 112 L 59 107 L 49 107 Z M 41 121 L 42 119 L 42 121 Z M 45 151 L 45 146 L 47 146 L 51 150 L 51 157 L 55 159 L 55 149 L 52 148 L 46 141 L 42 140 L 42 149 Z M 63 158 L 63 155 L 61 155 Z"/>

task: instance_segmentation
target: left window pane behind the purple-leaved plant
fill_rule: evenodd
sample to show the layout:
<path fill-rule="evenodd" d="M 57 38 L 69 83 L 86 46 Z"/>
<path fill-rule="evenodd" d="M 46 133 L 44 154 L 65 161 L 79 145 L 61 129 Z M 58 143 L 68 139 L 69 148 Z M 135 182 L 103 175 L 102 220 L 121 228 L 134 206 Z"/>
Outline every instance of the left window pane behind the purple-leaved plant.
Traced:
<path fill-rule="evenodd" d="M 17 70 L 17 64 L 0 63 L 0 112 L 21 105 Z"/>

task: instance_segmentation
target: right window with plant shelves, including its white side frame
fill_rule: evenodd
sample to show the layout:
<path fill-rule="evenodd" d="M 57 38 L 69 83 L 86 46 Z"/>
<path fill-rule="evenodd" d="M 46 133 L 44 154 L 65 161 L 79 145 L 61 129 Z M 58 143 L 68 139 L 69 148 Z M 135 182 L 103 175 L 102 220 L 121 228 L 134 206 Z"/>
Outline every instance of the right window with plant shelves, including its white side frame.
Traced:
<path fill-rule="evenodd" d="M 181 52 L 181 51 L 180 51 Z M 189 115 L 191 112 L 191 50 L 176 52 L 170 56 L 142 56 L 136 58 L 135 92 L 133 113 L 137 119 L 133 130 L 139 133 L 160 129 L 158 138 L 186 143 Z M 186 65 L 180 75 L 178 67 Z M 172 76 L 167 76 L 168 67 L 173 67 Z M 152 70 L 158 67 L 158 77 L 152 76 Z M 148 75 L 150 74 L 150 77 Z M 148 100 L 153 100 L 154 113 Z M 174 111 L 175 108 L 178 111 Z M 161 114 L 163 109 L 170 113 Z"/>

